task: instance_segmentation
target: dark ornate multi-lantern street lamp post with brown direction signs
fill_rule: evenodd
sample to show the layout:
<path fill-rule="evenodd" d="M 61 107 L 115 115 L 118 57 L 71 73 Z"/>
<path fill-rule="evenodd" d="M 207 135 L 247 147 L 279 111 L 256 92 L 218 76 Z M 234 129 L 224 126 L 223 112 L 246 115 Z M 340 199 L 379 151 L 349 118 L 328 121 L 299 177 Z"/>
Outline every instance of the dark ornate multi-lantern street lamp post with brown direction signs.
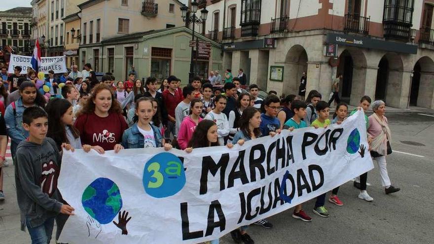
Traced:
<path fill-rule="evenodd" d="M 182 21 L 184 21 L 187 25 L 191 24 L 191 23 L 193 24 L 193 28 L 192 28 L 193 34 L 191 35 L 192 41 L 194 41 L 194 26 L 205 23 L 205 21 L 207 20 L 207 17 L 208 17 L 208 10 L 206 9 L 206 7 L 200 11 L 200 17 L 196 16 L 198 6 L 199 6 L 199 3 L 196 0 L 192 0 L 190 9 L 188 9 L 188 7 L 185 5 L 182 5 L 182 7 L 181 7 Z M 187 17 L 187 12 L 192 14 L 192 15 Z M 198 45 L 198 41 L 196 38 L 196 52 L 197 52 L 197 45 Z M 190 72 L 188 73 L 188 82 L 189 83 L 191 83 L 191 81 L 193 80 L 193 76 L 194 76 L 193 51 L 194 51 L 194 47 L 191 46 Z"/>

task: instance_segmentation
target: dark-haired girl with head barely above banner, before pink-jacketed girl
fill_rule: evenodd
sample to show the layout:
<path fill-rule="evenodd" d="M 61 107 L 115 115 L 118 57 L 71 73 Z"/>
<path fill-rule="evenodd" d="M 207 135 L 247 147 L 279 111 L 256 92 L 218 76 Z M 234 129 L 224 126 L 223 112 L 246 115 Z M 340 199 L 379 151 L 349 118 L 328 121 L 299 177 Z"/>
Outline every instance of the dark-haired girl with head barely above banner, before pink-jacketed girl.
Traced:
<path fill-rule="evenodd" d="M 193 148 L 209 147 L 209 146 L 219 146 L 217 125 L 214 121 L 204 119 L 199 124 L 197 124 L 196 130 L 193 132 L 193 136 L 188 142 L 188 147 L 185 148 L 185 152 L 191 153 Z M 226 144 L 228 148 L 232 148 L 232 144 Z M 219 241 L 213 240 L 211 244 L 218 244 Z M 253 243 L 252 243 L 253 244 Z"/>

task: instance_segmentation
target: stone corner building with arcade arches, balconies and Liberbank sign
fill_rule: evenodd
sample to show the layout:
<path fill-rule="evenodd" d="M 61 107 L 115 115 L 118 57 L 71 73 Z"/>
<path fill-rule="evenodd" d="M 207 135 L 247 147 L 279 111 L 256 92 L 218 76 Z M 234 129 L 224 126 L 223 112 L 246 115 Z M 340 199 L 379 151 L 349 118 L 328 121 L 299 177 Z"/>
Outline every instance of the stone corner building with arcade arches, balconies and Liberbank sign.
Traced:
<path fill-rule="evenodd" d="M 222 44 L 223 67 L 244 69 L 263 89 L 297 94 L 306 71 L 308 92 L 326 100 L 343 74 L 340 95 L 351 105 L 369 95 L 394 107 L 434 108 L 434 0 L 206 4 L 204 33 Z"/>

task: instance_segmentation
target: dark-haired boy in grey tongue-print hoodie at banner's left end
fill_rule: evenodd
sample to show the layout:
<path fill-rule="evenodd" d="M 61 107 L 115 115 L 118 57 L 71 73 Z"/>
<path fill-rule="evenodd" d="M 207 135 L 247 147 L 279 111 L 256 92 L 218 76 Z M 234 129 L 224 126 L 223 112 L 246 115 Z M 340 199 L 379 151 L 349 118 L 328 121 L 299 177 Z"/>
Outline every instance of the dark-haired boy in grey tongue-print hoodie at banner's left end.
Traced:
<path fill-rule="evenodd" d="M 57 178 L 61 153 L 53 139 L 47 138 L 48 117 L 40 107 L 23 112 L 23 127 L 29 138 L 20 142 L 16 152 L 15 183 L 21 212 L 21 230 L 29 230 L 32 244 L 50 243 L 57 214 L 73 215 L 73 208 L 60 202 Z M 62 148 L 73 150 L 70 144 Z"/>

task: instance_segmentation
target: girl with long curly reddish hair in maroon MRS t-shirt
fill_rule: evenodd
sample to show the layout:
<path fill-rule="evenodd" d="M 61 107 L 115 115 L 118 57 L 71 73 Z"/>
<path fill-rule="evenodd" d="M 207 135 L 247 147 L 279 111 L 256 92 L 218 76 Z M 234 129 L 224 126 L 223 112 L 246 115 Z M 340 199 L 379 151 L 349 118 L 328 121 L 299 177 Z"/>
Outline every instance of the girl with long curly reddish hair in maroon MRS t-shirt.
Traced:
<path fill-rule="evenodd" d="M 87 104 L 77 115 L 75 128 L 80 132 L 81 143 L 93 146 L 99 153 L 123 149 L 122 135 L 128 125 L 107 85 L 95 86 Z"/>

